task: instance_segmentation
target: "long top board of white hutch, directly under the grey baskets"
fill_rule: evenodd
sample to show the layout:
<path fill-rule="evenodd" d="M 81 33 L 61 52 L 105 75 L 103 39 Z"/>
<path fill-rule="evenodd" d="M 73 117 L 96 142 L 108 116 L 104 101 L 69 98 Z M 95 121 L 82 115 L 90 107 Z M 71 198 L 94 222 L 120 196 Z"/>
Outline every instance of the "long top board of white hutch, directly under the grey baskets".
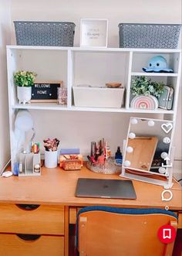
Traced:
<path fill-rule="evenodd" d="M 61 46 L 15 46 L 8 45 L 7 49 L 57 49 L 57 50 L 68 50 L 72 51 L 100 51 L 100 52 L 143 52 L 143 53 L 181 53 L 181 49 L 144 49 L 144 48 L 112 48 L 112 47 L 61 47 Z"/>

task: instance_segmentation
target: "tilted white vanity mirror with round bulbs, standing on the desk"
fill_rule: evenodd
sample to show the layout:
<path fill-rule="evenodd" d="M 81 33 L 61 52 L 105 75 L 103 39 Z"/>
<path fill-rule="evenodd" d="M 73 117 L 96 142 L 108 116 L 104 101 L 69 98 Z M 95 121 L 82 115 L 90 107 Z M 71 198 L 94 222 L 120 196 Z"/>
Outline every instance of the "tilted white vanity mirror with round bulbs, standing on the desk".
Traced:
<path fill-rule="evenodd" d="M 138 179 L 148 182 L 149 176 L 155 175 L 159 185 L 163 185 L 163 180 L 168 181 L 173 162 L 170 157 L 172 131 L 173 121 L 130 118 L 121 176 L 135 179 L 138 175 Z M 152 183 L 156 182 L 152 180 Z"/>

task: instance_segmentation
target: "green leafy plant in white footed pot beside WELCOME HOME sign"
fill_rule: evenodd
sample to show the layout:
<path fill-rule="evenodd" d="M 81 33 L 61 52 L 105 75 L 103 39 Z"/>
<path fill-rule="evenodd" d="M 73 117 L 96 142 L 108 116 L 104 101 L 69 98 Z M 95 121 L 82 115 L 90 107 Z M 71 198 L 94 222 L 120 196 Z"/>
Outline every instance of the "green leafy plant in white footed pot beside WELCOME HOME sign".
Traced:
<path fill-rule="evenodd" d="M 32 85 L 35 82 L 36 73 L 19 70 L 13 74 L 14 83 L 17 86 L 19 104 L 30 103 L 32 97 Z"/>

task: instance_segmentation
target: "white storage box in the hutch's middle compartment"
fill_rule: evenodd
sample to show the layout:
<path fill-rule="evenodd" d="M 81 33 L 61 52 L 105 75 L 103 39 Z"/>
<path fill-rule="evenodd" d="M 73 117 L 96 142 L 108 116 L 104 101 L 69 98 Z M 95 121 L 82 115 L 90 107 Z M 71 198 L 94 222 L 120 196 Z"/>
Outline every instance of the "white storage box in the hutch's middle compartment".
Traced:
<path fill-rule="evenodd" d="M 124 88 L 75 86 L 73 88 L 76 107 L 121 108 Z"/>

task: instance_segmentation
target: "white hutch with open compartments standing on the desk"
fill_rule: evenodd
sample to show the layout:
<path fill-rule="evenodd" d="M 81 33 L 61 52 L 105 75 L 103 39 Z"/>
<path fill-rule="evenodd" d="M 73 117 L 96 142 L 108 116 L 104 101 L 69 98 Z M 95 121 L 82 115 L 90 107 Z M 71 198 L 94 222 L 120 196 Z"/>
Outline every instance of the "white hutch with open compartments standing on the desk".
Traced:
<path fill-rule="evenodd" d="M 142 67 L 152 56 L 163 56 L 174 73 L 144 73 Z M 127 49 L 99 47 L 55 47 L 55 46 L 7 46 L 8 62 L 8 104 L 11 135 L 11 150 L 13 148 L 13 129 L 15 111 L 29 109 L 30 111 L 87 111 L 111 112 L 128 114 L 159 114 L 160 119 L 176 122 L 177 97 L 180 87 L 180 49 Z M 31 70 L 38 74 L 37 80 L 63 80 L 68 90 L 66 106 L 56 103 L 18 104 L 16 88 L 13 83 L 15 70 Z M 131 80 L 136 76 L 147 76 L 152 80 L 163 81 L 174 87 L 174 104 L 170 111 L 143 110 L 130 108 Z M 122 108 L 81 108 L 74 105 L 72 86 L 92 84 L 103 86 L 107 82 L 118 81 L 126 88 Z M 124 125 L 124 124 L 123 124 Z M 12 154 L 12 163 L 15 155 Z"/>

